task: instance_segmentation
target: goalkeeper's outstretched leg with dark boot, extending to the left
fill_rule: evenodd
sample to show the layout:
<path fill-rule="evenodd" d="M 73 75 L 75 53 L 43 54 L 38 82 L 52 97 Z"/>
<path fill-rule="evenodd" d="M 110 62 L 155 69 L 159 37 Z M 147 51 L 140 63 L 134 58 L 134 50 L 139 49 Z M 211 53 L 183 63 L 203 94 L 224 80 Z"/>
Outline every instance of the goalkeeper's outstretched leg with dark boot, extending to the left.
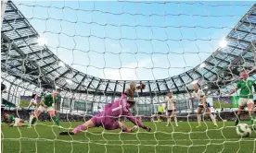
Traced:
<path fill-rule="evenodd" d="M 59 135 L 77 135 L 78 133 L 87 130 L 88 128 L 95 127 L 93 120 L 94 118 L 90 119 L 82 125 L 78 125 L 76 128 L 73 129 L 73 131 L 64 131 L 59 133 Z"/>

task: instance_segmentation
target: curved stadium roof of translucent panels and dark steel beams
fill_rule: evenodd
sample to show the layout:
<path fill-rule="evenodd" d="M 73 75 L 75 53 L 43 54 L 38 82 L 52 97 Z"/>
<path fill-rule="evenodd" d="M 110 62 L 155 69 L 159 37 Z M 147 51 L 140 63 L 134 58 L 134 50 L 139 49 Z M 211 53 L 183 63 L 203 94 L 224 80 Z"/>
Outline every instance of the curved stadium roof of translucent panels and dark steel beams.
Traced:
<path fill-rule="evenodd" d="M 192 82 L 219 90 L 234 83 L 241 70 L 255 74 L 256 5 L 226 36 L 227 45 L 216 49 L 202 64 L 178 76 L 159 80 L 141 80 L 146 88 L 141 96 L 186 93 Z M 61 66 L 46 45 L 38 44 L 39 34 L 11 1 L 6 4 L 1 29 L 1 70 L 42 88 L 58 88 L 72 92 L 119 96 L 130 81 L 110 80 L 84 74 L 69 65 Z M 201 66 L 203 65 L 203 66 Z"/>

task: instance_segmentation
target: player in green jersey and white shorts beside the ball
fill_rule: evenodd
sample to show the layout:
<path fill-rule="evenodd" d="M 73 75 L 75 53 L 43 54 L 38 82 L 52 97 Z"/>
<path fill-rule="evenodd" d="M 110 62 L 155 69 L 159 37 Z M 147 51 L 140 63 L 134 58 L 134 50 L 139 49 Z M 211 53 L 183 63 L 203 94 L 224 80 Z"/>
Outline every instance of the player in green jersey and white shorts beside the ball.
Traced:
<path fill-rule="evenodd" d="M 241 112 L 244 110 L 245 105 L 247 105 L 249 114 L 250 114 L 250 124 L 254 125 L 254 102 L 253 102 L 253 92 L 252 87 L 254 88 L 254 92 L 256 92 L 256 84 L 252 80 L 248 79 L 249 74 L 247 72 L 241 72 L 242 79 L 237 83 L 237 87 L 230 92 L 230 96 L 237 92 L 238 89 L 240 90 L 239 95 L 239 109 L 237 112 L 238 119 L 235 121 L 237 124 L 240 121 Z"/>

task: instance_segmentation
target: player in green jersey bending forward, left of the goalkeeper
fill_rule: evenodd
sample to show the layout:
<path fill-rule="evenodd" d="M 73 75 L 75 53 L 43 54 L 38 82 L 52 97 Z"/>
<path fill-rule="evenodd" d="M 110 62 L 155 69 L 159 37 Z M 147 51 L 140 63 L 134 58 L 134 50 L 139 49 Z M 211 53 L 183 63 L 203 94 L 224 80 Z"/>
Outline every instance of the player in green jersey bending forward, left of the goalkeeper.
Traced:
<path fill-rule="evenodd" d="M 58 102 L 57 96 L 58 96 L 58 91 L 54 91 L 52 94 L 45 95 L 44 97 L 42 97 L 40 106 L 37 112 L 35 112 L 35 116 L 37 119 L 42 112 L 47 111 L 51 116 L 51 119 L 59 126 L 59 119 L 58 119 L 58 116 L 56 116 L 57 102 Z"/>

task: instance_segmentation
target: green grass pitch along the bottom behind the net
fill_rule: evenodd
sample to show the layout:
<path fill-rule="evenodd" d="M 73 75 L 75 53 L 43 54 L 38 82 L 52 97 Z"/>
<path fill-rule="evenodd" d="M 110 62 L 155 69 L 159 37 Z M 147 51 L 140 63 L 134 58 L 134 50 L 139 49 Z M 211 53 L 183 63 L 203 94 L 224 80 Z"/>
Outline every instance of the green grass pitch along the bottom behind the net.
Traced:
<path fill-rule="evenodd" d="M 61 123 L 65 128 L 73 128 L 82 123 Z M 128 126 L 132 124 L 126 122 Z M 40 123 L 36 128 L 7 127 L 2 124 L 2 153 L 151 153 L 151 152 L 256 152 L 256 132 L 248 138 L 241 138 L 236 133 L 234 123 L 218 123 L 214 129 L 211 122 L 196 129 L 196 122 L 182 122 L 179 127 L 166 123 L 145 123 L 152 130 L 147 133 L 120 133 L 120 130 L 104 131 L 97 127 L 79 135 L 58 135 L 63 131 L 52 123 Z M 249 124 L 249 123 L 247 123 Z M 207 127 L 208 126 L 208 127 Z"/>

